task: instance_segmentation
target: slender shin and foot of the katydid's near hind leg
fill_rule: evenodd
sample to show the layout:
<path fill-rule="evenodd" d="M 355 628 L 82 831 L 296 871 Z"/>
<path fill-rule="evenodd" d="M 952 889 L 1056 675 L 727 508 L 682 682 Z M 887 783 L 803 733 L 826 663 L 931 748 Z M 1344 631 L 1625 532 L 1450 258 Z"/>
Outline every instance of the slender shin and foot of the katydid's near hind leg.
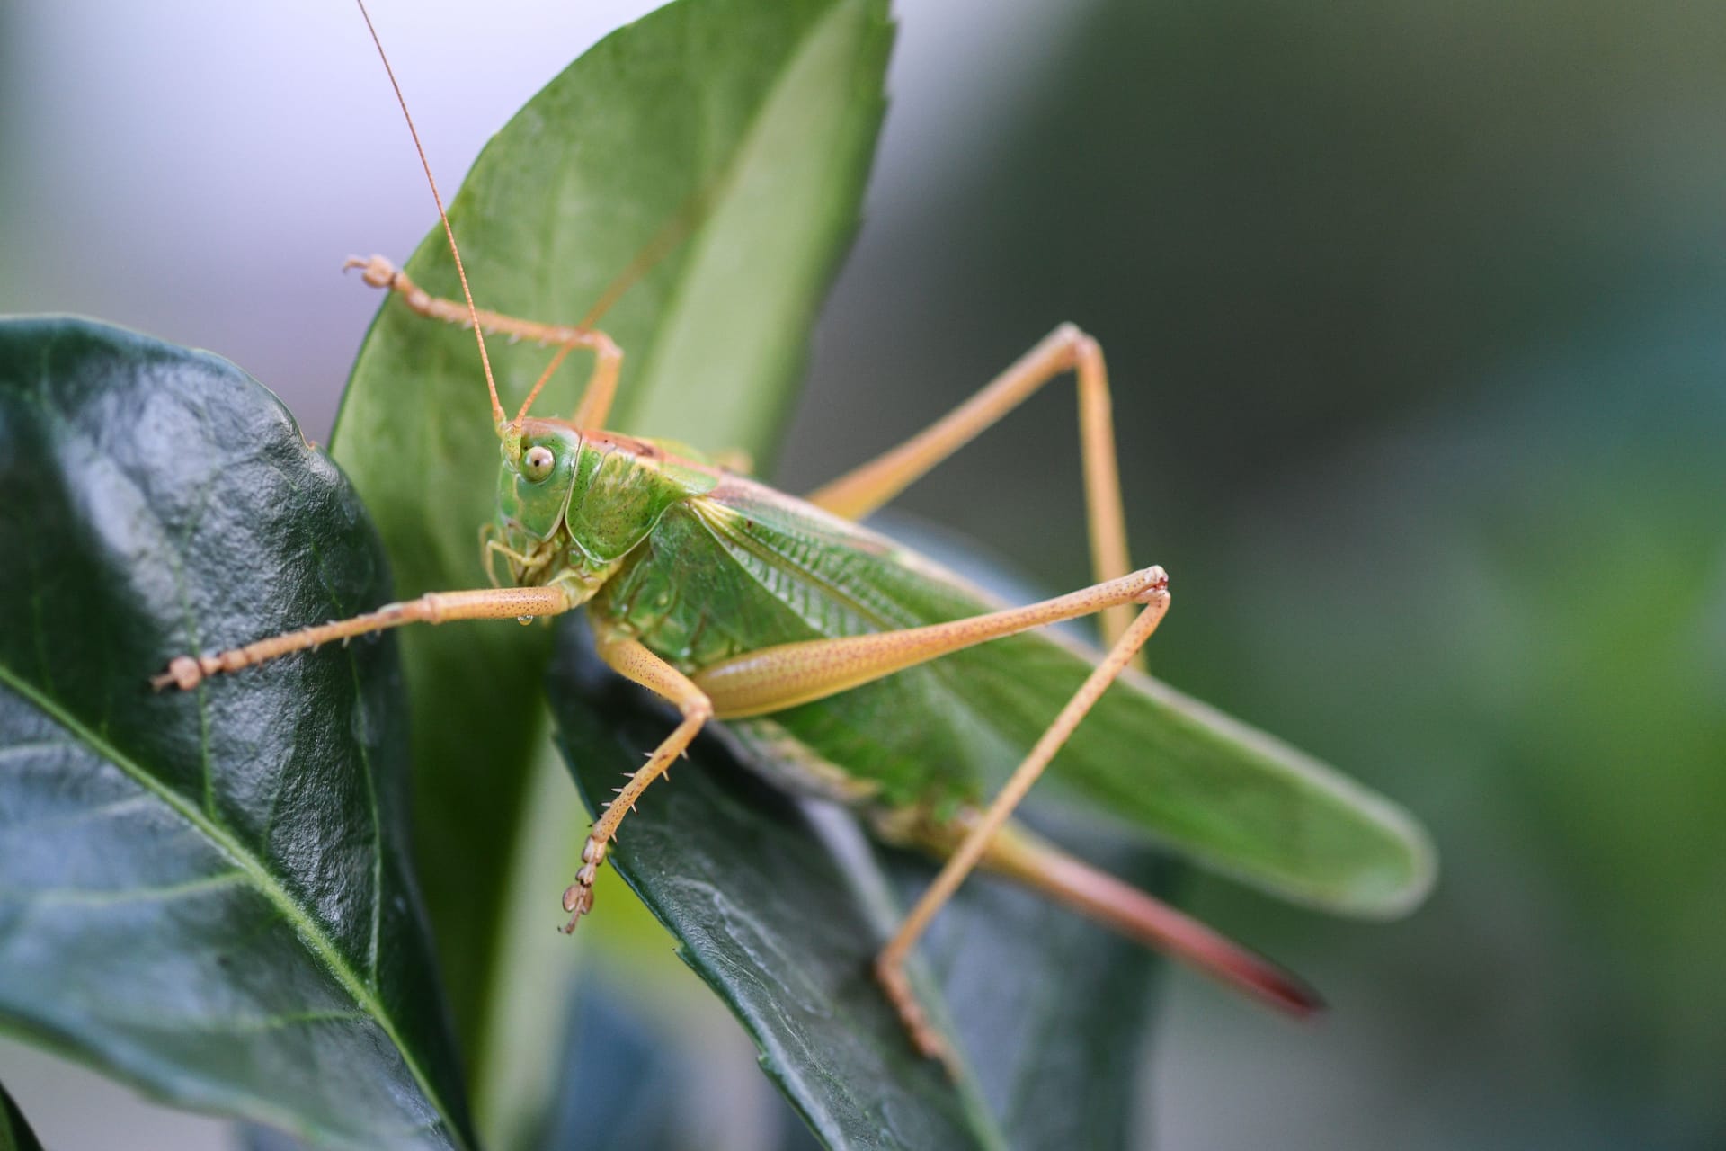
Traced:
<path fill-rule="evenodd" d="M 1018 806 L 1018 802 L 1030 790 L 1030 785 L 1037 782 L 1043 770 L 1049 766 L 1055 752 L 1072 737 L 1079 721 L 1084 720 L 1086 713 L 1096 706 L 1096 701 L 1103 697 L 1108 685 L 1122 673 L 1127 663 L 1132 659 L 1134 652 L 1144 645 L 1144 640 L 1151 637 L 1156 625 L 1162 623 L 1163 613 L 1169 611 L 1169 592 L 1167 585 L 1162 585 L 1151 592 L 1151 595 L 1143 601 L 1144 609 L 1139 616 L 1127 626 L 1127 632 L 1115 640 L 1115 645 L 1108 651 L 1086 682 L 1079 687 L 1074 697 L 1061 708 L 1061 713 L 1055 718 L 1055 723 L 1043 733 L 1043 737 L 1025 756 L 1025 761 L 1018 764 L 1013 775 L 1008 778 L 1006 785 L 989 804 L 987 811 L 977 818 L 975 825 L 965 833 L 965 839 L 948 858 L 941 873 L 935 875 L 935 882 L 929 885 L 911 913 L 904 916 L 904 923 L 894 934 L 892 940 L 882 947 L 880 956 L 875 959 L 875 977 L 880 980 L 882 987 L 887 991 L 887 997 L 892 999 L 894 1008 L 899 1011 L 899 1018 L 904 1020 L 906 1028 L 911 1032 L 911 1041 L 917 1049 L 930 1058 L 948 1058 L 946 1041 L 941 1034 L 929 1023 L 929 1016 L 923 1015 L 922 1006 L 917 1003 L 917 994 L 911 991 L 911 984 L 904 973 L 904 961 L 911 954 L 911 947 L 917 944 L 918 937 L 929 927 L 929 921 L 935 918 L 935 913 L 946 906 L 953 892 L 958 890 L 965 877 L 972 873 L 977 861 L 989 849 L 996 833 L 1006 823 L 1008 816 Z"/>

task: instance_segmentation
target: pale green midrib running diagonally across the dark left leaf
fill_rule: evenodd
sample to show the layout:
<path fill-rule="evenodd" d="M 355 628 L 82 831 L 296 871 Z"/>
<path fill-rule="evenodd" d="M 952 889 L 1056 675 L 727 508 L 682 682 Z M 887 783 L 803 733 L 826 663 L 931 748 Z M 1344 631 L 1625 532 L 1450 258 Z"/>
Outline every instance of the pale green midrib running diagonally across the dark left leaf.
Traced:
<path fill-rule="evenodd" d="M 337 978 L 354 1003 L 359 1004 L 366 1015 L 383 1028 L 383 1034 L 388 1035 L 395 1051 L 400 1054 L 404 1066 L 407 1066 L 407 1072 L 414 1077 L 414 1084 L 419 1087 L 421 1094 L 425 1094 L 426 1101 L 437 1108 L 450 1141 L 457 1146 L 468 1146 L 461 1134 L 461 1127 L 456 1123 L 430 1077 L 419 1066 L 413 1049 L 402 1042 L 402 1035 L 388 1011 L 383 1009 L 381 1001 L 371 994 L 366 980 L 362 980 L 345 961 L 342 951 L 335 946 L 323 927 L 311 915 L 300 909 L 299 903 L 295 903 L 287 889 L 276 882 L 276 878 L 252 851 L 249 851 L 228 828 L 207 818 L 173 790 L 162 787 L 140 763 L 133 761 L 129 756 L 97 735 L 83 721 L 62 709 L 54 699 L 43 695 L 33 683 L 21 678 L 5 663 L 0 663 L 0 683 L 24 697 L 97 756 L 124 771 L 135 783 L 138 783 L 138 787 L 155 796 L 164 806 L 167 806 L 169 811 L 190 823 L 197 832 L 205 835 L 209 842 L 233 859 L 233 863 L 236 863 L 240 870 L 252 878 L 252 887 L 264 896 L 264 899 L 268 899 L 281 913 L 283 920 L 295 928 L 295 934 L 312 956 L 323 963 L 323 966 Z M 378 897 L 381 896 L 375 892 L 373 899 Z"/>

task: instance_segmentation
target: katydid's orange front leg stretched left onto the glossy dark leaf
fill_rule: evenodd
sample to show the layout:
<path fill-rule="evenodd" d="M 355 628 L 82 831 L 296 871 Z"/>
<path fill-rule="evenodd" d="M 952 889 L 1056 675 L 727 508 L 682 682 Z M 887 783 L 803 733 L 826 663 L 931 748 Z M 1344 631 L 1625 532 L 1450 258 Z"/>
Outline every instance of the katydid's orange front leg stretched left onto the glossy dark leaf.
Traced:
<path fill-rule="evenodd" d="M 167 671 L 152 676 L 150 687 L 178 687 L 192 690 L 205 676 L 219 671 L 238 671 L 290 652 L 318 647 L 331 640 L 347 640 L 368 632 L 399 628 L 404 623 L 444 623 L 445 620 L 509 620 L 528 616 L 556 616 L 570 611 L 570 595 L 559 587 L 487 587 L 471 592 L 430 592 L 404 604 L 385 604 L 378 611 L 321 623 L 299 632 L 273 635 L 245 647 L 231 647 L 214 656 L 176 656 Z"/>

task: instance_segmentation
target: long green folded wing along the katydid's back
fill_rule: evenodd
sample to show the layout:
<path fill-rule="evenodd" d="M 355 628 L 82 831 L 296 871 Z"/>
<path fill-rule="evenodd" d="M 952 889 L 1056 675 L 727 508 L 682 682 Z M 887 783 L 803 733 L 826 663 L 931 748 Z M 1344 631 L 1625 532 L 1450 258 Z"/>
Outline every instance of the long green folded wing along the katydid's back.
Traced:
<path fill-rule="evenodd" d="M 666 583 L 704 587 L 697 626 L 734 626 L 727 647 L 1001 607 L 910 549 L 754 483 L 728 480 L 697 500 L 680 535 L 654 563 L 671 576 Z M 702 571 L 668 569 L 683 563 Z M 716 609 L 721 602 L 737 613 Z M 1017 763 L 1094 661 L 1094 652 L 1048 632 L 1017 635 L 777 713 L 766 730 L 882 783 L 891 802 L 911 799 L 917 787 L 937 801 L 970 797 Z M 1210 870 L 1329 911 L 1398 915 L 1433 884 L 1433 849 L 1405 811 L 1137 673 L 1103 695 L 1046 778 L 1051 796 Z"/>

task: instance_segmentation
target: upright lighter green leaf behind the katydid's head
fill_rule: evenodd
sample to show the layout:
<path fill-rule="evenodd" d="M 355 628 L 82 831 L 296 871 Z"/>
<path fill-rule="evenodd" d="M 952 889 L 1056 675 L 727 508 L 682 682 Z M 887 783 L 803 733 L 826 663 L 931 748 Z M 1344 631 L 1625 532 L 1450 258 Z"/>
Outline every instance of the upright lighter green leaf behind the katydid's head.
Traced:
<path fill-rule="evenodd" d="M 885 9 L 685 0 L 601 41 L 492 140 L 450 207 L 478 302 L 573 323 L 699 202 L 702 226 L 604 319 L 627 355 L 609 423 L 765 457 L 856 228 L 884 107 Z M 459 295 L 442 230 L 407 269 Z M 549 354 L 494 340 L 492 357 L 513 404 Z M 571 411 L 583 359 L 539 411 Z M 494 514 L 497 442 L 471 333 L 388 302 L 333 443 L 399 595 L 483 582 L 476 530 Z M 421 873 L 457 1030 L 483 1066 L 492 992 L 513 982 L 497 975 L 509 961 L 499 915 L 542 744 L 547 637 L 494 625 L 402 642 Z"/>

